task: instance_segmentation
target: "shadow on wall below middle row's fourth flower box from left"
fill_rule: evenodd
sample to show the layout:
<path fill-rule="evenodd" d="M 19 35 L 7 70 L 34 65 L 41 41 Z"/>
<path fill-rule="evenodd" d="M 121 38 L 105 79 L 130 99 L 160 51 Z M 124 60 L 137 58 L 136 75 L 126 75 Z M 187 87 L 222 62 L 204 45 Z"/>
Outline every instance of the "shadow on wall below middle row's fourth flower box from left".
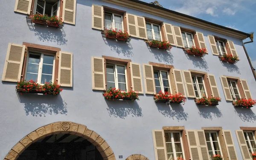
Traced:
<path fill-rule="evenodd" d="M 222 113 L 216 106 L 197 105 L 199 115 L 205 119 L 221 118 Z"/>

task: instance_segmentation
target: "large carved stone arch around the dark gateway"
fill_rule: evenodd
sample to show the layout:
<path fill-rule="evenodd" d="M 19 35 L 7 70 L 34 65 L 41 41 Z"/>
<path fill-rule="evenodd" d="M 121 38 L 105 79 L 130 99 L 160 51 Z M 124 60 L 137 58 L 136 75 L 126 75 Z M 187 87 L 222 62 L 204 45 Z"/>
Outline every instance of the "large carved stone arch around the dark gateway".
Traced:
<path fill-rule="evenodd" d="M 113 150 L 99 134 L 90 130 L 85 125 L 74 122 L 55 122 L 32 131 L 9 151 L 4 160 L 16 160 L 32 143 L 52 134 L 60 133 L 83 137 L 96 146 L 104 160 L 116 160 Z"/>

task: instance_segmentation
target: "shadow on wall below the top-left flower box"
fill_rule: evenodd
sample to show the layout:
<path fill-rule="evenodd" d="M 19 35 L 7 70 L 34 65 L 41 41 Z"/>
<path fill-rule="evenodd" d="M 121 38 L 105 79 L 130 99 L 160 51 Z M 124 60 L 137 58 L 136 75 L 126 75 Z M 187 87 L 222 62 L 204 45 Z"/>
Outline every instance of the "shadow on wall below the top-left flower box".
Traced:
<path fill-rule="evenodd" d="M 36 23 L 27 23 L 29 26 L 29 30 L 35 32 L 35 36 L 38 37 L 39 41 L 43 42 L 55 42 L 57 45 L 67 44 L 67 40 L 65 39 L 66 33 L 64 29 L 59 29 L 55 27 L 48 27 L 41 24 Z"/>

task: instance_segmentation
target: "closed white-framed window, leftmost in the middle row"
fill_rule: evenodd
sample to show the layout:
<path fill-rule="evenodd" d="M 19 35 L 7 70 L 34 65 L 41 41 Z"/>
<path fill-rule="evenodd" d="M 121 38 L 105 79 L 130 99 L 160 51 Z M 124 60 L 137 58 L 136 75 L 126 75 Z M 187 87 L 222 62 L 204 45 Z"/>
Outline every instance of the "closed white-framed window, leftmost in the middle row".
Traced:
<path fill-rule="evenodd" d="M 29 52 L 26 65 L 27 81 L 38 81 L 40 84 L 53 82 L 55 56 L 40 52 Z"/>

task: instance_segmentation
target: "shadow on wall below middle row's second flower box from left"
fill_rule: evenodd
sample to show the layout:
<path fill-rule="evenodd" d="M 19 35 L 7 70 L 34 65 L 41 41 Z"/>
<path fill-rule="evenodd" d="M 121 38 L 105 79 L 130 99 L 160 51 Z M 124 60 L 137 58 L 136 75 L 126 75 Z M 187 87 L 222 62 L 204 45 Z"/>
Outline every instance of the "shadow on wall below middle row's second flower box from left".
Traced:
<path fill-rule="evenodd" d="M 138 105 L 137 101 L 130 100 L 107 100 L 109 116 L 125 119 L 125 117 L 131 115 L 133 117 L 142 117 L 142 109 Z"/>

